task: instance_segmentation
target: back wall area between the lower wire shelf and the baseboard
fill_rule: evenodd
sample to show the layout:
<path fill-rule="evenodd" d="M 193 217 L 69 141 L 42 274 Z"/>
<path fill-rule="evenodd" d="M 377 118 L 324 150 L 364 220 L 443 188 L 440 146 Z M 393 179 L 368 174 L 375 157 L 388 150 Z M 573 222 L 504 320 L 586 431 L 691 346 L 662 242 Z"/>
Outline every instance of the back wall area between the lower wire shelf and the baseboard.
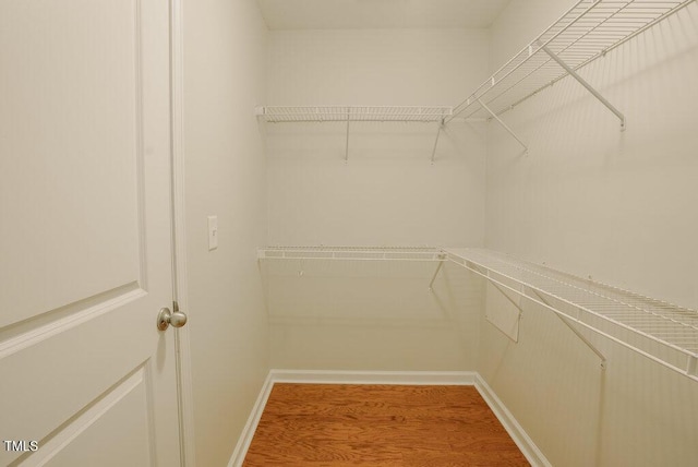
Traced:
<path fill-rule="evenodd" d="M 481 284 L 437 263 L 268 261 L 272 367 L 473 371 Z M 302 275 L 301 275 L 302 273 Z"/>

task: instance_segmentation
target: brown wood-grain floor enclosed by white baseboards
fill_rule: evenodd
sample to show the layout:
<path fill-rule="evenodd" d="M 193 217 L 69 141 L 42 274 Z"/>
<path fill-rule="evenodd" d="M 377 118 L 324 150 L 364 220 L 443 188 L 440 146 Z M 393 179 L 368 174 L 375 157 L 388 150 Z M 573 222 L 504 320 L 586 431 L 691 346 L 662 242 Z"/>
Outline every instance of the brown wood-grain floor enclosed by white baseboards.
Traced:
<path fill-rule="evenodd" d="M 275 384 L 254 466 L 528 466 L 473 386 Z"/>

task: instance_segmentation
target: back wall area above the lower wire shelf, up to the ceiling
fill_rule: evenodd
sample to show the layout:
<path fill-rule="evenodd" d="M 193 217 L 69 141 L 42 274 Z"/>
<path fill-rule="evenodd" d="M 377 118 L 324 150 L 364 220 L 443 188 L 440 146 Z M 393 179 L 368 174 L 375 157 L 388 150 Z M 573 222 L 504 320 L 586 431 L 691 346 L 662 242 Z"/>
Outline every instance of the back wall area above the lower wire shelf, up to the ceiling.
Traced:
<path fill-rule="evenodd" d="M 289 31 L 269 38 L 269 105 L 450 106 L 486 77 L 484 29 Z M 269 241 L 481 244 L 483 125 L 266 124 Z"/>

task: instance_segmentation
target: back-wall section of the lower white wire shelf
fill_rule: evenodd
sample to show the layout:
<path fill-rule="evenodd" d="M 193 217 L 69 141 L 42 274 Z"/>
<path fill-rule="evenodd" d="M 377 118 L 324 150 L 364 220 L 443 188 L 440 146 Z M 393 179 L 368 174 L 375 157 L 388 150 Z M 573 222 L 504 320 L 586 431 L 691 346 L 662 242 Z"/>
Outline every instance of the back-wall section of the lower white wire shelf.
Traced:
<path fill-rule="evenodd" d="M 446 253 L 431 247 L 264 247 L 260 260 L 438 261 Z"/>

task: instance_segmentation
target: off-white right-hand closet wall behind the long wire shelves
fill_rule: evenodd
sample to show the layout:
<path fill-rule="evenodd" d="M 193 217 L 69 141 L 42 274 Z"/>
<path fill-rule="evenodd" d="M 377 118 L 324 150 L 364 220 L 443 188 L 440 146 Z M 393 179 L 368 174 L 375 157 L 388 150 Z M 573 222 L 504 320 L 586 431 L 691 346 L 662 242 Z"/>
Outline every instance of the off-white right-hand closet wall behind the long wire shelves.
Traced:
<path fill-rule="evenodd" d="M 493 63 L 569 4 L 514 0 L 492 31 Z M 626 113 L 625 132 L 570 79 L 505 113 L 530 153 L 491 125 L 486 246 L 698 308 L 697 73 L 694 3 L 581 72 Z M 479 371 L 554 465 L 695 465 L 698 384 L 589 335 L 609 359 L 601 372 L 530 304 L 520 335 L 484 323 Z"/>

